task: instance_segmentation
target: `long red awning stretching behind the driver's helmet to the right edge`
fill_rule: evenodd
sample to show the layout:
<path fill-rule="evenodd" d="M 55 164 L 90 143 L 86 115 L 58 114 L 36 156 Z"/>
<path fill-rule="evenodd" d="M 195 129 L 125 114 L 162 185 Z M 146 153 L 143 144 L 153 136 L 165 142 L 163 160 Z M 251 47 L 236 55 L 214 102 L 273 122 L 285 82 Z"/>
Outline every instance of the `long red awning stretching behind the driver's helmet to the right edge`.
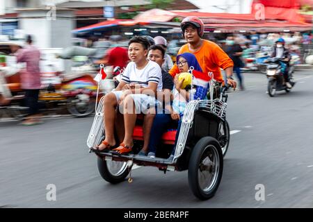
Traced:
<path fill-rule="evenodd" d="M 135 21 L 168 22 L 175 17 L 200 17 L 208 30 L 214 28 L 225 31 L 248 31 L 257 29 L 259 31 L 309 31 L 312 24 L 305 23 L 303 16 L 299 15 L 296 9 L 291 8 L 265 8 L 265 19 L 257 20 L 255 14 L 230 14 L 230 13 L 210 13 L 210 12 L 186 12 L 179 10 L 148 10 L 134 18 Z M 286 19 L 286 18 L 289 19 Z"/>

